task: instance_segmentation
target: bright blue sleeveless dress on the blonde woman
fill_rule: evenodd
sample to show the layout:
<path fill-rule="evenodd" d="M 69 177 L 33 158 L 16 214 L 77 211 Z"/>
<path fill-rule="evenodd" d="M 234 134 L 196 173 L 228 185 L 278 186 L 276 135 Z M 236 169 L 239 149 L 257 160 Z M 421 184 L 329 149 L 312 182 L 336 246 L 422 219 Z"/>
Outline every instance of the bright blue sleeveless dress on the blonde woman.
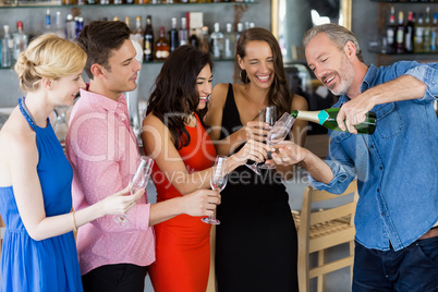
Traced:
<path fill-rule="evenodd" d="M 39 161 L 37 172 L 46 216 L 70 212 L 72 168 L 48 120 L 37 126 L 19 99 L 20 110 L 36 132 Z M 0 187 L 0 214 L 5 222 L 1 252 L 0 291 L 83 291 L 73 232 L 42 241 L 27 233 L 16 207 L 12 186 Z"/>

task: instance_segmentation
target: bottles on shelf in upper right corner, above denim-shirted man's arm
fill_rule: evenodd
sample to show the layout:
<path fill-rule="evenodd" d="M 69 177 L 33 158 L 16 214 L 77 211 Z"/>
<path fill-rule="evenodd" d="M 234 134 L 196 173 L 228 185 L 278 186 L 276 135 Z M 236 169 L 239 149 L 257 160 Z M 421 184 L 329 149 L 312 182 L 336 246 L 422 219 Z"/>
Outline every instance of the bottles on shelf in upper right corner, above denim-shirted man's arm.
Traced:
<path fill-rule="evenodd" d="M 438 0 L 415 1 L 423 5 L 398 5 L 414 1 L 379 2 L 378 34 L 368 44 L 382 56 L 438 53 Z"/>

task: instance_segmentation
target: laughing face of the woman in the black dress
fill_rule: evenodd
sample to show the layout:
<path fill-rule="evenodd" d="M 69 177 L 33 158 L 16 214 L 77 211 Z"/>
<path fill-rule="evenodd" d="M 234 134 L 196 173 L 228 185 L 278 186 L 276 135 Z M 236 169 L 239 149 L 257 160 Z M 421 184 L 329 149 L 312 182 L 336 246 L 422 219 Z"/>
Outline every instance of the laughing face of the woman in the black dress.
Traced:
<path fill-rule="evenodd" d="M 246 70 L 251 84 L 269 88 L 273 82 L 273 56 L 268 42 L 252 40 L 245 46 L 245 57 L 238 56 L 239 65 Z"/>

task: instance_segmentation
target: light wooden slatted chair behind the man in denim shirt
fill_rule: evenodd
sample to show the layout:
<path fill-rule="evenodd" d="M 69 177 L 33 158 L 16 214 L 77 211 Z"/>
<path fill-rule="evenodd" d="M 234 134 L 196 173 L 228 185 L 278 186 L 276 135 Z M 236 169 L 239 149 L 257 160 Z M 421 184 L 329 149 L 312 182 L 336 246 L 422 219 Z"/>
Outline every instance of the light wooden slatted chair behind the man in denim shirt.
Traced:
<path fill-rule="evenodd" d="M 352 194 L 349 199 L 346 195 Z M 343 198 L 341 198 L 343 197 Z M 341 195 L 333 195 L 307 186 L 304 191 L 301 212 L 292 211 L 299 235 L 299 284 L 301 292 L 309 291 L 309 279 L 317 277 L 317 291 L 325 291 L 325 276 L 328 272 L 350 266 L 350 282 L 354 258 L 354 212 L 358 199 L 357 182 L 354 180 Z M 336 200 L 341 200 L 336 204 Z M 348 200 L 345 203 L 345 200 Z M 324 202 L 327 209 L 316 209 L 315 203 Z M 340 205 L 341 204 L 341 205 Z M 350 255 L 327 263 L 327 248 L 350 244 Z M 309 267 L 309 254 L 318 253 L 318 264 Z"/>

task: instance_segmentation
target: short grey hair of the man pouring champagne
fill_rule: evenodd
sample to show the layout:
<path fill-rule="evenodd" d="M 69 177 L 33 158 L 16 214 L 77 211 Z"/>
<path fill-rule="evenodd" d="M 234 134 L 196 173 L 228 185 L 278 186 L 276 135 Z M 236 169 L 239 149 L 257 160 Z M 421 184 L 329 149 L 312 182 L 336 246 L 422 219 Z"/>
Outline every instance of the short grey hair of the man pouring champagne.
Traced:
<path fill-rule="evenodd" d="M 333 41 L 333 44 L 340 49 L 343 50 L 345 44 L 348 41 L 353 42 L 354 47 L 356 47 L 356 57 L 361 62 L 364 62 L 364 58 L 362 57 L 362 50 L 358 46 L 358 41 L 356 36 L 348 28 L 334 24 L 334 23 L 327 23 L 317 25 L 312 27 L 306 32 L 303 37 L 303 46 L 304 48 L 311 42 L 311 40 L 316 37 L 318 34 L 325 33 L 327 37 Z"/>

